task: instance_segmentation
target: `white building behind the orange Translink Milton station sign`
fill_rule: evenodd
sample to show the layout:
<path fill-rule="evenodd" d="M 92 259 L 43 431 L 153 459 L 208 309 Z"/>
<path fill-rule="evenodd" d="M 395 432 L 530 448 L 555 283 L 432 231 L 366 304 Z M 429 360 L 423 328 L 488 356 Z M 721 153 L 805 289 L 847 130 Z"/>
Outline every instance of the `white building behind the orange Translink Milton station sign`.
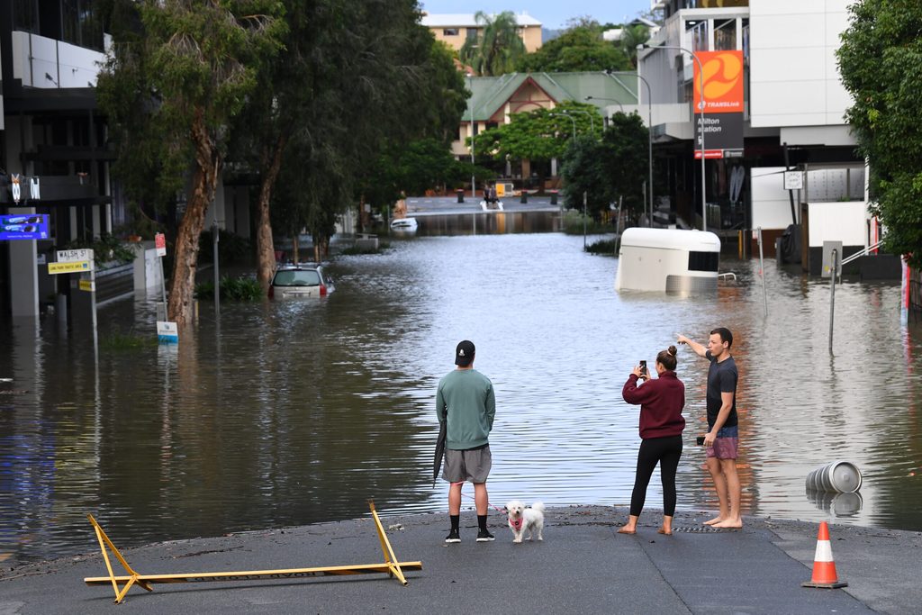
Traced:
<path fill-rule="evenodd" d="M 743 58 L 742 150 L 724 150 L 734 158 L 706 160 L 708 230 L 725 240 L 739 231 L 743 247 L 753 249 L 749 231 L 761 227 L 767 253 L 774 254 L 774 239 L 806 217 L 813 223 L 804 231 L 811 249 L 805 267 L 814 273 L 823 241 L 845 242 L 846 254 L 876 241 L 865 164 L 845 124 L 851 101 L 835 56 L 851 3 L 651 0 L 665 24 L 638 53 L 638 73 L 651 99 L 641 106 L 652 106 L 657 194 L 669 196 L 668 207 L 681 219 L 700 228 L 704 208 L 701 161 L 695 160 L 701 145 L 692 132 L 699 112 L 691 101 L 692 53 L 737 50 Z M 646 89 L 640 92 L 647 96 Z M 707 139 L 705 132 L 705 149 Z M 786 169 L 804 173 L 802 189 L 784 189 Z"/>

